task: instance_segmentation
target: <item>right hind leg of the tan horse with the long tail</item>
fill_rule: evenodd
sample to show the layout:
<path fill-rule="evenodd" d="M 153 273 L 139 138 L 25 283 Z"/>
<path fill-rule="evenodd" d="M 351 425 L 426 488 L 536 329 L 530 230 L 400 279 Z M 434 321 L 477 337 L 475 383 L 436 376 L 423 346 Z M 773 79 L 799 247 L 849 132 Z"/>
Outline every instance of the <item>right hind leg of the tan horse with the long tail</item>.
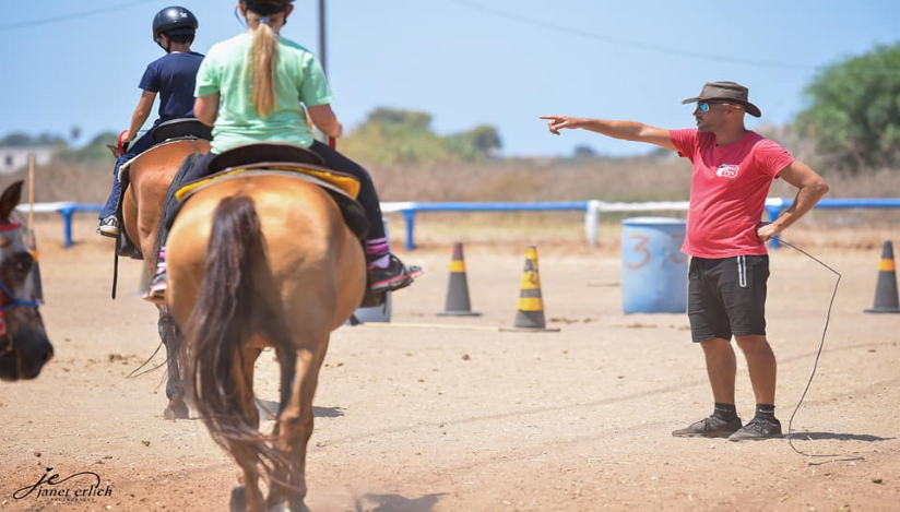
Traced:
<path fill-rule="evenodd" d="M 325 347 L 328 341 L 318 346 Z M 297 353 L 289 396 L 282 404 L 275 426 L 276 446 L 288 462 L 287 474 L 280 477 L 288 483 L 289 487 L 273 483 L 274 492 L 270 496 L 269 504 L 276 504 L 277 500 L 273 499 L 273 496 L 277 496 L 286 500 L 294 512 L 309 510 L 304 503 L 307 492 L 306 450 L 312 436 L 312 397 L 316 394 L 324 349 L 320 349 L 319 353 Z"/>

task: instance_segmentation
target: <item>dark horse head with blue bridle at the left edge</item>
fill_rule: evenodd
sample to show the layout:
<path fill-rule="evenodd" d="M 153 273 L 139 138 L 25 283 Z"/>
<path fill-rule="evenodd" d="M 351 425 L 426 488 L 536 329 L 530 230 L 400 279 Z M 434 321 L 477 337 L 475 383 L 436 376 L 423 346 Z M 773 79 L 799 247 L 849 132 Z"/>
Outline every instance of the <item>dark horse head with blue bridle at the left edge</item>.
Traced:
<path fill-rule="evenodd" d="M 22 225 L 10 221 L 19 204 L 22 181 L 0 195 L 0 379 L 34 379 L 54 357 L 37 311 L 34 258 L 25 245 Z"/>

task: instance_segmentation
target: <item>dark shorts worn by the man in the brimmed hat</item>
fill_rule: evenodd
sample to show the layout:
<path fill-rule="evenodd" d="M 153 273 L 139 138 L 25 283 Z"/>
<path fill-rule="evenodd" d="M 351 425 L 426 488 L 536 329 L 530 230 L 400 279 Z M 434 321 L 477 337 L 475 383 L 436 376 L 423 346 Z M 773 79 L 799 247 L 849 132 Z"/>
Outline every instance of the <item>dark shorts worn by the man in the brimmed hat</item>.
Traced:
<path fill-rule="evenodd" d="M 766 335 L 768 255 L 691 258 L 687 314 L 694 342 Z"/>

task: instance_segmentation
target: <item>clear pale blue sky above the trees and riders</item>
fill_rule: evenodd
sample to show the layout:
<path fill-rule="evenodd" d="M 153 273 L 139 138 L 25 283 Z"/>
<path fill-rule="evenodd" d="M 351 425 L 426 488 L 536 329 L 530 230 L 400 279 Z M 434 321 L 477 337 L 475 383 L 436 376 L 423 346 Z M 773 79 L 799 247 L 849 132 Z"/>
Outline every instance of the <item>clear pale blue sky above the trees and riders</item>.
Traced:
<path fill-rule="evenodd" d="M 178 0 L 176 0 L 178 1 Z M 0 1 L 0 136 L 127 128 L 138 82 L 162 50 L 151 21 L 171 0 Z M 318 0 L 283 35 L 319 52 Z M 183 0 L 204 52 L 244 28 L 227 0 Z M 900 40 L 896 0 L 328 0 L 328 71 L 345 127 L 384 106 L 433 115 L 441 134 L 493 124 L 506 155 L 647 151 L 537 116 L 692 126 L 704 81 L 750 87 L 762 119 L 790 122 L 822 67 Z M 155 112 L 154 112 L 155 115 Z M 153 119 L 153 118 L 151 118 Z"/>

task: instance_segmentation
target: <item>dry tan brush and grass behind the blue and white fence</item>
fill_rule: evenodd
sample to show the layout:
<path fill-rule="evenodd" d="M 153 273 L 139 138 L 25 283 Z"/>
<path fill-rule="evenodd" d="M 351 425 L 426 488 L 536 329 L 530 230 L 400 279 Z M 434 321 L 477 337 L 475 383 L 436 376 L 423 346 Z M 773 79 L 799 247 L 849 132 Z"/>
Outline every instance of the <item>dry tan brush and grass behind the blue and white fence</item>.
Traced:
<path fill-rule="evenodd" d="M 35 172 L 35 201 L 103 203 L 111 183 L 112 158 L 97 163 L 52 163 Z M 536 201 L 685 201 L 690 190 L 690 165 L 673 155 L 632 158 L 547 159 L 516 158 L 475 165 L 435 164 L 370 168 L 381 201 L 418 202 L 536 202 Z M 897 197 L 900 172 L 884 169 L 863 175 L 822 172 L 829 198 Z M 5 175 L 0 186 L 27 180 L 27 170 Z M 24 191 L 27 194 L 27 189 Z M 770 197 L 793 199 L 796 189 L 775 180 Z M 27 195 L 23 198 L 27 201 Z M 683 212 L 606 214 L 600 227 L 601 248 L 616 249 L 623 218 L 635 215 L 683 217 Z M 395 243 L 403 221 L 388 215 Z M 466 239 L 483 243 L 557 241 L 573 247 L 584 242 L 583 214 L 578 212 L 421 213 L 418 243 L 451 243 Z M 880 247 L 884 239 L 900 240 L 900 210 L 817 209 L 808 213 L 790 239 L 804 247 Z"/>

